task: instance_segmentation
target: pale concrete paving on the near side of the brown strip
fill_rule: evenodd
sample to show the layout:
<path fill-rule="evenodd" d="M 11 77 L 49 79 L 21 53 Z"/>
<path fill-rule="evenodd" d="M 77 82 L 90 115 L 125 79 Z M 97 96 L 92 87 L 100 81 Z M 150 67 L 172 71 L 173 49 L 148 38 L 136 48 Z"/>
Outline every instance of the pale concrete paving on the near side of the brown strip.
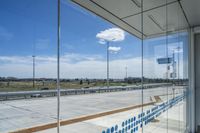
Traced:
<path fill-rule="evenodd" d="M 184 102 L 175 105 L 173 108 L 169 109 L 167 112 L 163 113 L 156 118 L 156 122 L 150 122 L 142 128 L 139 128 L 137 133 L 184 133 L 185 131 L 185 118 L 183 108 L 185 106 Z M 147 110 L 151 107 L 146 107 Z M 67 126 L 61 126 L 61 133 L 102 133 L 103 130 L 112 127 L 113 125 L 120 125 L 120 123 L 131 116 L 142 112 L 141 109 L 134 109 L 122 113 L 117 113 L 97 119 L 92 119 L 84 122 L 79 122 L 76 124 L 71 124 Z M 168 119 L 167 119 L 168 118 Z M 142 131 L 143 130 L 143 131 Z M 56 133 L 57 129 L 52 128 L 38 133 Z M 118 133 L 118 132 L 117 132 Z M 127 133 L 131 133 L 128 131 Z"/>

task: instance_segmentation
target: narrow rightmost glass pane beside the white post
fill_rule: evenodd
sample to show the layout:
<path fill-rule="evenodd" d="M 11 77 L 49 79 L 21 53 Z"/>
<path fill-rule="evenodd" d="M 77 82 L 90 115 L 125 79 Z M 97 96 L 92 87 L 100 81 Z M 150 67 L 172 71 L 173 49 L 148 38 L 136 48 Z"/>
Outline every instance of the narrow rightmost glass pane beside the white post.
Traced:
<path fill-rule="evenodd" d="M 179 3 L 168 5 L 168 53 L 170 64 L 170 88 L 172 107 L 168 115 L 168 131 L 184 133 L 186 130 L 186 94 L 188 87 L 188 33 L 187 21 Z"/>

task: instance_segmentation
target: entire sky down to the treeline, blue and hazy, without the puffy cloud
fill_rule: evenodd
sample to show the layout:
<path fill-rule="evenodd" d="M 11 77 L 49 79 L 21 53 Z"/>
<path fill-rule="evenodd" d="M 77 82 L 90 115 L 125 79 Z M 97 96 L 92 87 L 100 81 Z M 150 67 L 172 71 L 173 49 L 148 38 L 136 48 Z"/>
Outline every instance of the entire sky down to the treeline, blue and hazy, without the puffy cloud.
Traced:
<path fill-rule="evenodd" d="M 106 44 L 96 35 L 116 26 L 68 0 L 61 2 L 61 76 L 105 78 Z M 34 54 L 36 77 L 56 77 L 57 0 L 1 0 L 0 16 L 0 76 L 31 77 Z M 110 77 L 123 78 L 125 67 L 128 76 L 140 77 L 141 40 L 124 34 L 123 40 L 110 42 L 120 47 L 110 54 Z M 178 45 L 176 36 L 169 42 Z M 165 37 L 145 40 L 147 76 L 163 77 L 166 69 L 157 66 L 156 58 L 166 56 L 165 43 Z"/>

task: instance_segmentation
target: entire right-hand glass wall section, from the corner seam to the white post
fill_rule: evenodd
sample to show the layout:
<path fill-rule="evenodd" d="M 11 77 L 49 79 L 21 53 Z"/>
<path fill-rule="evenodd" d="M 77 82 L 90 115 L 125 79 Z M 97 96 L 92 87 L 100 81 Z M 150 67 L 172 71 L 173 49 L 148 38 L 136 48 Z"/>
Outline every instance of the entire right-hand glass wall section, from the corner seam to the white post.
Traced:
<path fill-rule="evenodd" d="M 143 108 L 150 111 L 143 118 L 143 132 L 185 132 L 188 24 L 179 2 L 155 2 L 157 7 L 148 10 L 153 7 L 149 2 L 143 0 L 143 84 L 163 85 L 143 88 L 143 99 L 155 100 L 153 106 Z"/>

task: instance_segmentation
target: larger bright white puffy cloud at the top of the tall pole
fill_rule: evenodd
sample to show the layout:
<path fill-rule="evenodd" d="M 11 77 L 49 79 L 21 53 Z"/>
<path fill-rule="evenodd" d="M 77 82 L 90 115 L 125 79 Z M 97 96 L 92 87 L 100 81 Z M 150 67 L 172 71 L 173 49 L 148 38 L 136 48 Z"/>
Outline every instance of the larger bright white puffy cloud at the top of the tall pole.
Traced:
<path fill-rule="evenodd" d="M 119 28 L 110 28 L 104 31 L 101 31 L 96 35 L 101 41 L 123 41 L 125 39 L 125 32 Z"/>

